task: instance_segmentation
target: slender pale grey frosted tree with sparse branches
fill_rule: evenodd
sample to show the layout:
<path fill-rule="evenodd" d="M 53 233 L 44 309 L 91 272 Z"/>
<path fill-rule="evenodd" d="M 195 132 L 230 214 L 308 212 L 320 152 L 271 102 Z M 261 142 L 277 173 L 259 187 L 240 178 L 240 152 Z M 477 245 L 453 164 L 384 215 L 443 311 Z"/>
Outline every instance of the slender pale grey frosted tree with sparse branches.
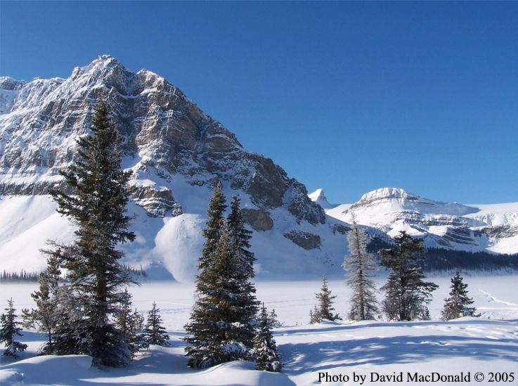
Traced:
<path fill-rule="evenodd" d="M 349 255 L 345 257 L 344 268 L 349 273 L 347 285 L 352 290 L 349 319 L 365 321 L 375 319 L 377 300 L 375 285 L 370 279 L 375 266 L 375 256 L 367 252 L 368 236 L 353 216 L 353 226 L 349 231 Z"/>

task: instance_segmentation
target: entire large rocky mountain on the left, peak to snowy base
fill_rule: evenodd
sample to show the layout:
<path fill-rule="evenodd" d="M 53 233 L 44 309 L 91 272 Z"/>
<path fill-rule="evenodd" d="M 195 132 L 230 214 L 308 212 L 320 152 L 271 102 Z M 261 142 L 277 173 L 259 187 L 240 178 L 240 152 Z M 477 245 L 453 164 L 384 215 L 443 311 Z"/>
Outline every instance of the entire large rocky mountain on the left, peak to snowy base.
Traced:
<path fill-rule="evenodd" d="M 39 249 L 46 240 L 73 238 L 46 193 L 65 188 L 58 170 L 72 162 L 75 141 L 89 132 L 101 96 L 126 139 L 124 168 L 134 172 L 129 212 L 137 216 L 137 238 L 124 246 L 129 264 L 155 277 L 191 281 L 216 179 L 227 198 L 242 200 L 259 276 L 318 277 L 341 264 L 344 225 L 326 217 L 304 185 L 245 150 L 164 78 L 101 56 L 67 79 L 0 77 L 1 270 L 42 269 Z"/>

